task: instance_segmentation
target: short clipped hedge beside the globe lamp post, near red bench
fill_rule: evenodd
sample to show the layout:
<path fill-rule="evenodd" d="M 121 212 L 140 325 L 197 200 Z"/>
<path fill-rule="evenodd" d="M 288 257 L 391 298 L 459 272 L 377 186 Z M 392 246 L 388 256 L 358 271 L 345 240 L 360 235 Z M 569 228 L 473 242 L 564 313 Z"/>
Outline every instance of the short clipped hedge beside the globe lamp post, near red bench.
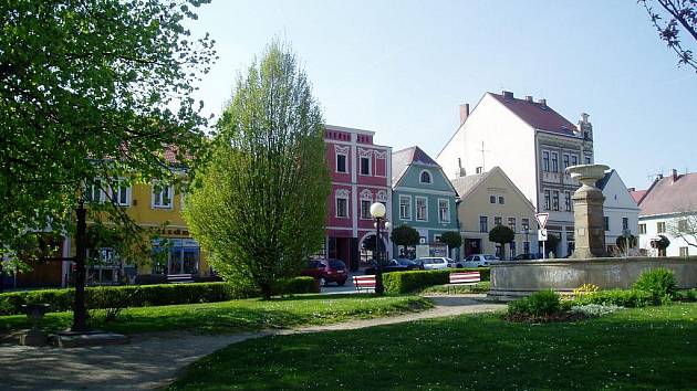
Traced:
<path fill-rule="evenodd" d="M 450 282 L 450 273 L 457 272 L 479 272 L 481 281 L 489 281 L 489 268 L 476 267 L 385 273 L 383 275 L 383 284 L 387 293 L 409 293 L 428 286 L 448 284 Z"/>

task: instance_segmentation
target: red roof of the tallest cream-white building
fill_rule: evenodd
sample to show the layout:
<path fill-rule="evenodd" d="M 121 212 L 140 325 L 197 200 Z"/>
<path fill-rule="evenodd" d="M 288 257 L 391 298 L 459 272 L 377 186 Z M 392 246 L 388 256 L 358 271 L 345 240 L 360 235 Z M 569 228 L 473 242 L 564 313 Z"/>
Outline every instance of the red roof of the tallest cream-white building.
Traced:
<path fill-rule="evenodd" d="M 547 103 L 519 99 L 512 97 L 512 94 L 511 97 L 493 93 L 489 94 L 535 129 L 574 136 L 576 126 L 562 117 L 561 114 L 554 112 Z"/>

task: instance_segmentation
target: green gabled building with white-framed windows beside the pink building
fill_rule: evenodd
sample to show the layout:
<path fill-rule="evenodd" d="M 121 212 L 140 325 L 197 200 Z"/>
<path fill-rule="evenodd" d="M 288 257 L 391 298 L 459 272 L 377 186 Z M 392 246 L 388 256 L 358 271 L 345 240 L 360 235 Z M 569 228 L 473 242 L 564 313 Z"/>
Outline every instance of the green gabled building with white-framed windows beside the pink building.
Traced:
<path fill-rule="evenodd" d="M 440 166 L 410 147 L 392 154 L 392 173 L 393 228 L 409 225 L 419 232 L 420 244 L 443 249 L 440 235 L 458 231 L 458 222 L 457 192 Z M 398 256 L 399 249 L 393 254 Z"/>

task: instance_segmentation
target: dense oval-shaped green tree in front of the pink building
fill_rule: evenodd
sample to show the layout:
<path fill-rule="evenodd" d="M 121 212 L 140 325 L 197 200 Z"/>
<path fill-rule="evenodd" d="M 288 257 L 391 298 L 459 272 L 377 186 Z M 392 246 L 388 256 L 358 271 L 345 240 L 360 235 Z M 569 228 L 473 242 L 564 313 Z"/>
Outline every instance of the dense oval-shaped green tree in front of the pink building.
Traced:
<path fill-rule="evenodd" d="M 274 41 L 238 77 L 184 212 L 214 268 L 227 281 L 252 282 L 264 298 L 324 240 L 324 126 L 297 64 Z"/>

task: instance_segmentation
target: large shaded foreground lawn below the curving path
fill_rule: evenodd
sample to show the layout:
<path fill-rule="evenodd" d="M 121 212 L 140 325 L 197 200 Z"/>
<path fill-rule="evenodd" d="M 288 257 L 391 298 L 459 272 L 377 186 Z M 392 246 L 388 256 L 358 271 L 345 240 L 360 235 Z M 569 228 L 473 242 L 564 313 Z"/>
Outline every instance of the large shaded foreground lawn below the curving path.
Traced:
<path fill-rule="evenodd" d="M 173 390 L 697 389 L 697 304 L 566 324 L 500 314 L 277 336 L 190 366 Z"/>

